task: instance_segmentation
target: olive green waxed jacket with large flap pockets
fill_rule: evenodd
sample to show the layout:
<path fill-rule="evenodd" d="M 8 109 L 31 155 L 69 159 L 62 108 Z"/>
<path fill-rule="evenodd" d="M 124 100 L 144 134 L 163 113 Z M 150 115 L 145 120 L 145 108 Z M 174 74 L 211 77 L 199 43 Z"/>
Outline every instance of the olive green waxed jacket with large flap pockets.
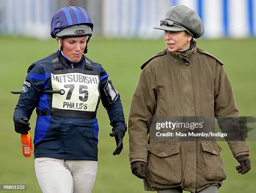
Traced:
<path fill-rule="evenodd" d="M 145 190 L 181 187 L 195 193 L 222 185 L 226 174 L 216 142 L 150 139 L 152 116 L 238 116 L 223 63 L 197 48 L 185 54 L 166 48 L 141 66 L 128 122 L 130 163 L 147 163 Z M 228 142 L 233 156 L 249 154 L 246 142 Z"/>

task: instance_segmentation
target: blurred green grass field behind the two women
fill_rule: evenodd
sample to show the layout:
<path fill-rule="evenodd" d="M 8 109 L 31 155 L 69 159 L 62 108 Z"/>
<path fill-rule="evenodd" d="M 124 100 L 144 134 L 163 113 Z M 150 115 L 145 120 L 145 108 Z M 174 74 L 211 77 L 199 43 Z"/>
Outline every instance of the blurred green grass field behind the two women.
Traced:
<path fill-rule="evenodd" d="M 20 90 L 28 66 L 36 60 L 57 50 L 55 40 L 0 36 L 0 184 L 27 184 L 26 193 L 40 192 L 34 172 L 33 158 L 22 155 L 20 135 L 14 132 L 13 110 L 18 95 L 10 90 Z M 217 56 L 224 62 L 236 94 L 241 116 L 256 115 L 256 39 L 198 40 L 197 45 Z M 141 72 L 140 65 L 155 53 L 164 49 L 164 40 L 106 40 L 92 38 L 87 56 L 102 63 L 121 95 L 125 118 L 131 105 L 133 91 Z M 31 118 L 35 125 L 35 114 Z M 131 173 L 128 160 L 128 134 L 124 138 L 124 149 L 119 156 L 113 156 L 115 142 L 108 115 L 100 105 L 99 120 L 99 162 L 93 193 L 143 193 L 143 181 Z M 33 129 L 32 129 L 33 133 Z M 255 140 L 255 139 L 254 139 Z M 219 143 L 225 165 L 227 180 L 220 193 L 251 193 L 256 189 L 256 142 L 251 147 L 252 169 L 246 175 L 236 173 L 237 161 L 233 158 L 227 143 Z M 8 191 L 11 193 L 12 191 Z M 13 191 L 14 193 L 17 191 Z"/>

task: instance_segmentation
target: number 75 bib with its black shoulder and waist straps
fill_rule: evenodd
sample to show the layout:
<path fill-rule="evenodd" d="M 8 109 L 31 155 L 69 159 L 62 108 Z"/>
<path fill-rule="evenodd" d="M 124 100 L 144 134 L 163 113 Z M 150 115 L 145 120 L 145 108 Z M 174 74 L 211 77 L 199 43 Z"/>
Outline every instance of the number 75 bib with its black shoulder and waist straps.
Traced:
<path fill-rule="evenodd" d="M 84 56 L 82 56 L 84 57 Z M 100 102 L 100 73 L 85 59 L 86 69 L 62 70 L 57 53 L 51 55 L 54 70 L 50 70 L 52 100 L 50 110 L 36 110 L 37 115 L 56 115 L 72 118 L 96 118 Z"/>

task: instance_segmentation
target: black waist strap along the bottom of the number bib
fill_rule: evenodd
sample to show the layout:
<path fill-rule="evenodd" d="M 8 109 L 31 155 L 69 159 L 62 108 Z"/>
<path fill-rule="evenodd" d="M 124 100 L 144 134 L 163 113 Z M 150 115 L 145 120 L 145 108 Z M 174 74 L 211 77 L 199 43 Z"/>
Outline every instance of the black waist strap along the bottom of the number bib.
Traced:
<path fill-rule="evenodd" d="M 93 119 L 96 118 L 95 111 L 80 111 L 80 110 L 65 110 L 52 108 L 51 110 L 36 110 L 37 115 L 46 116 L 46 115 L 55 115 L 59 117 L 71 117 L 71 118 L 85 118 Z"/>

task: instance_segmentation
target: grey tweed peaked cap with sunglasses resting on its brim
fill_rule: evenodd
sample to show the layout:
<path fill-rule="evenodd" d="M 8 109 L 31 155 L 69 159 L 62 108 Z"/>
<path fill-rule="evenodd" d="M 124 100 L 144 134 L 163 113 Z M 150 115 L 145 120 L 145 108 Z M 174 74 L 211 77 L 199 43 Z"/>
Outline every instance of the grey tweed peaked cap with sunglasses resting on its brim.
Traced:
<path fill-rule="evenodd" d="M 169 8 L 165 20 L 155 29 L 166 31 L 187 31 L 193 38 L 200 38 L 204 34 L 204 25 L 194 10 L 185 5 Z"/>

